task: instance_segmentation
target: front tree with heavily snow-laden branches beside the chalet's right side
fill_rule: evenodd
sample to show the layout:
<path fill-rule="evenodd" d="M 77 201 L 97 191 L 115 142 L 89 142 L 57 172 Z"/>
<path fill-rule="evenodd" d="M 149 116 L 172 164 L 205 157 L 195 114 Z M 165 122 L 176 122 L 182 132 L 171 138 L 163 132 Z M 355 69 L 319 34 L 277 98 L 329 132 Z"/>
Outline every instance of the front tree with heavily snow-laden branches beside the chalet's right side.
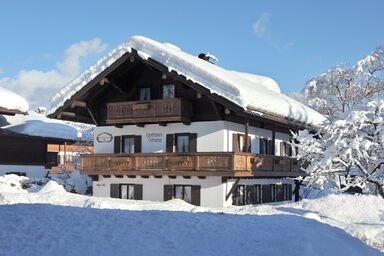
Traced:
<path fill-rule="evenodd" d="M 359 186 L 363 192 L 384 198 L 383 99 L 350 111 L 343 120 L 329 122 L 317 134 L 303 131 L 295 139 L 299 142 L 299 158 L 308 165 L 309 184 L 341 174 L 348 181 L 343 190 Z"/>

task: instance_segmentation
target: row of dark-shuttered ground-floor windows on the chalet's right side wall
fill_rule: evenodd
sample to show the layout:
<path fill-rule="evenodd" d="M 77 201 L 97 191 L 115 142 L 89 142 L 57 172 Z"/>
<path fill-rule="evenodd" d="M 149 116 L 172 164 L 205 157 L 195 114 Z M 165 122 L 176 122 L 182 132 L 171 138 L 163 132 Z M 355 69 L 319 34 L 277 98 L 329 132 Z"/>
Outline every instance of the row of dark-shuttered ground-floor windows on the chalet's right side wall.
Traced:
<path fill-rule="evenodd" d="M 292 184 L 238 185 L 232 194 L 233 205 L 261 204 L 292 200 Z"/>

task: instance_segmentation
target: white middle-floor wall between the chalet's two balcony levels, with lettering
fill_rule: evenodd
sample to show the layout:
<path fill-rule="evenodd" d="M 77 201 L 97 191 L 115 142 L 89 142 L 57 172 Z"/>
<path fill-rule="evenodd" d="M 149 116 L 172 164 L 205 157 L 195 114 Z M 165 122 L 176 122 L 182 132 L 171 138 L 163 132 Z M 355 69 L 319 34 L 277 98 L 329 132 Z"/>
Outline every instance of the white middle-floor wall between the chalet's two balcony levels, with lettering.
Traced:
<path fill-rule="evenodd" d="M 108 133 L 111 140 L 98 140 L 97 136 Z M 142 153 L 161 153 L 166 151 L 166 135 L 174 133 L 197 133 L 197 152 L 232 152 L 233 133 L 244 134 L 242 124 L 228 121 L 194 122 L 190 125 L 170 123 L 167 126 L 148 124 L 144 127 L 124 125 L 122 128 L 115 126 L 99 126 L 95 128 L 94 152 L 113 153 L 113 137 L 122 135 L 140 135 L 142 137 Z M 251 152 L 260 153 L 260 138 L 272 139 L 272 131 L 249 127 L 248 135 L 251 137 Z M 289 134 L 275 133 L 275 153 L 280 152 L 280 141 L 288 141 Z"/>

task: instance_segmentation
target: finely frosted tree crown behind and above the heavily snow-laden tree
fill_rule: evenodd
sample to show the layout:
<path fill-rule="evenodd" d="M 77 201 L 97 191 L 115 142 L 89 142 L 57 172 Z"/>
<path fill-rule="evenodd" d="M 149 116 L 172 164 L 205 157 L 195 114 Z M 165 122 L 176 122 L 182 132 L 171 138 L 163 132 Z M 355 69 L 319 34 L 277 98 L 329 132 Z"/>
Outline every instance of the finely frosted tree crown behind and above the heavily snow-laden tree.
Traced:
<path fill-rule="evenodd" d="M 304 87 L 308 106 L 331 120 L 342 118 L 366 99 L 384 93 L 384 48 L 351 68 L 337 66 L 310 79 Z"/>

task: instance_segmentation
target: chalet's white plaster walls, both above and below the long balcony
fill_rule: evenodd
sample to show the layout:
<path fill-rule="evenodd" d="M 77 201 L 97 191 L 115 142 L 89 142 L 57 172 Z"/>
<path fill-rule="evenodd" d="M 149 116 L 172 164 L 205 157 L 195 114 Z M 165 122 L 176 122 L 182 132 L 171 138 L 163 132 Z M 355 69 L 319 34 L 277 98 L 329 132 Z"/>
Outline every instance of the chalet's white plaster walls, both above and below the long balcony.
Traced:
<path fill-rule="evenodd" d="M 194 122 L 190 125 L 169 123 L 167 126 L 147 124 L 144 127 L 124 125 L 99 126 L 94 131 L 94 150 L 96 154 L 113 153 L 115 136 L 135 135 L 141 136 L 142 153 L 166 152 L 166 135 L 176 133 L 197 133 L 197 152 L 232 152 L 233 134 L 244 134 L 245 126 L 228 121 Z M 260 153 L 260 138 L 272 139 L 272 131 L 252 127 L 248 129 L 251 137 L 251 152 Z M 99 136 L 99 138 L 98 138 Z M 288 141 L 289 135 L 275 133 L 275 153 L 279 153 L 280 141 Z M 232 205 L 230 193 L 236 179 L 223 179 L 221 176 L 207 176 L 204 178 L 191 176 L 98 176 L 93 182 L 94 196 L 111 196 L 111 184 L 140 184 L 143 186 L 142 199 L 151 201 L 164 201 L 164 185 L 198 185 L 200 186 L 200 203 L 205 207 L 225 207 Z M 292 184 L 290 179 L 241 179 L 239 185 L 256 184 Z"/>

